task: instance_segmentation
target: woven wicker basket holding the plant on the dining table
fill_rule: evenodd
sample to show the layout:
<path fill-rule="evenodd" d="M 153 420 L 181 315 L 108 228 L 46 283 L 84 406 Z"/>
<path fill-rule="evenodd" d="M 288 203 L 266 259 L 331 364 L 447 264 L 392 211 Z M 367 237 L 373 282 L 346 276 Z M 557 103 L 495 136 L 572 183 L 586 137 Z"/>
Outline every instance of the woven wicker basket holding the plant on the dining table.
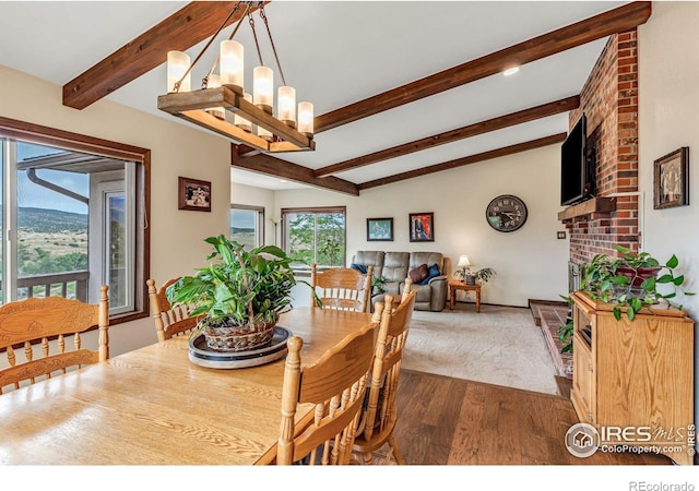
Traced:
<path fill-rule="evenodd" d="M 202 332 L 206 338 L 206 346 L 214 351 L 249 351 L 270 344 L 275 324 L 258 322 L 246 325 L 206 325 Z"/>

